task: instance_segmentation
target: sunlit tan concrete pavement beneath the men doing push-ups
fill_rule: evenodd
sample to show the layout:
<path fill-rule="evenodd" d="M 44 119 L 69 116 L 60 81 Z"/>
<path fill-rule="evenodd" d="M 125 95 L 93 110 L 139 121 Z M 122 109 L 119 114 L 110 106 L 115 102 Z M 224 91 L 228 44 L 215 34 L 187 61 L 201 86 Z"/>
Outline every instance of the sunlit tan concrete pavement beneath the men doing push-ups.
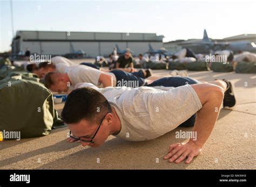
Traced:
<path fill-rule="evenodd" d="M 167 73 L 154 70 L 154 75 Z M 188 75 L 199 81 L 232 80 L 238 98 L 232 110 L 221 110 L 202 153 L 190 164 L 169 163 L 163 156 L 170 144 L 186 140 L 176 139 L 176 131 L 192 128 L 177 128 L 143 142 L 110 136 L 102 147 L 90 148 L 66 142 L 65 127 L 40 138 L 0 142 L 0 169 L 256 169 L 256 75 L 212 71 L 188 71 Z M 63 104 L 55 107 L 60 112 Z"/>

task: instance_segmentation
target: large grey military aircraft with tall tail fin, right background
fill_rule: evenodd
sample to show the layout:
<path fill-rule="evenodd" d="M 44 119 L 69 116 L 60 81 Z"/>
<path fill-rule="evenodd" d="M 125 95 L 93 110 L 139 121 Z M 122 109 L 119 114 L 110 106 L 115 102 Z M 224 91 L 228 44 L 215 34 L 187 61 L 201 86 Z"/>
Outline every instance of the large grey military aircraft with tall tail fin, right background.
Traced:
<path fill-rule="evenodd" d="M 256 45 L 250 41 L 238 41 L 238 42 L 213 42 L 208 38 L 206 30 L 204 30 L 204 37 L 200 42 L 183 41 L 178 44 L 181 47 L 190 48 L 194 53 L 212 53 L 219 50 L 231 50 L 234 53 L 240 51 L 248 51 L 256 53 Z"/>

